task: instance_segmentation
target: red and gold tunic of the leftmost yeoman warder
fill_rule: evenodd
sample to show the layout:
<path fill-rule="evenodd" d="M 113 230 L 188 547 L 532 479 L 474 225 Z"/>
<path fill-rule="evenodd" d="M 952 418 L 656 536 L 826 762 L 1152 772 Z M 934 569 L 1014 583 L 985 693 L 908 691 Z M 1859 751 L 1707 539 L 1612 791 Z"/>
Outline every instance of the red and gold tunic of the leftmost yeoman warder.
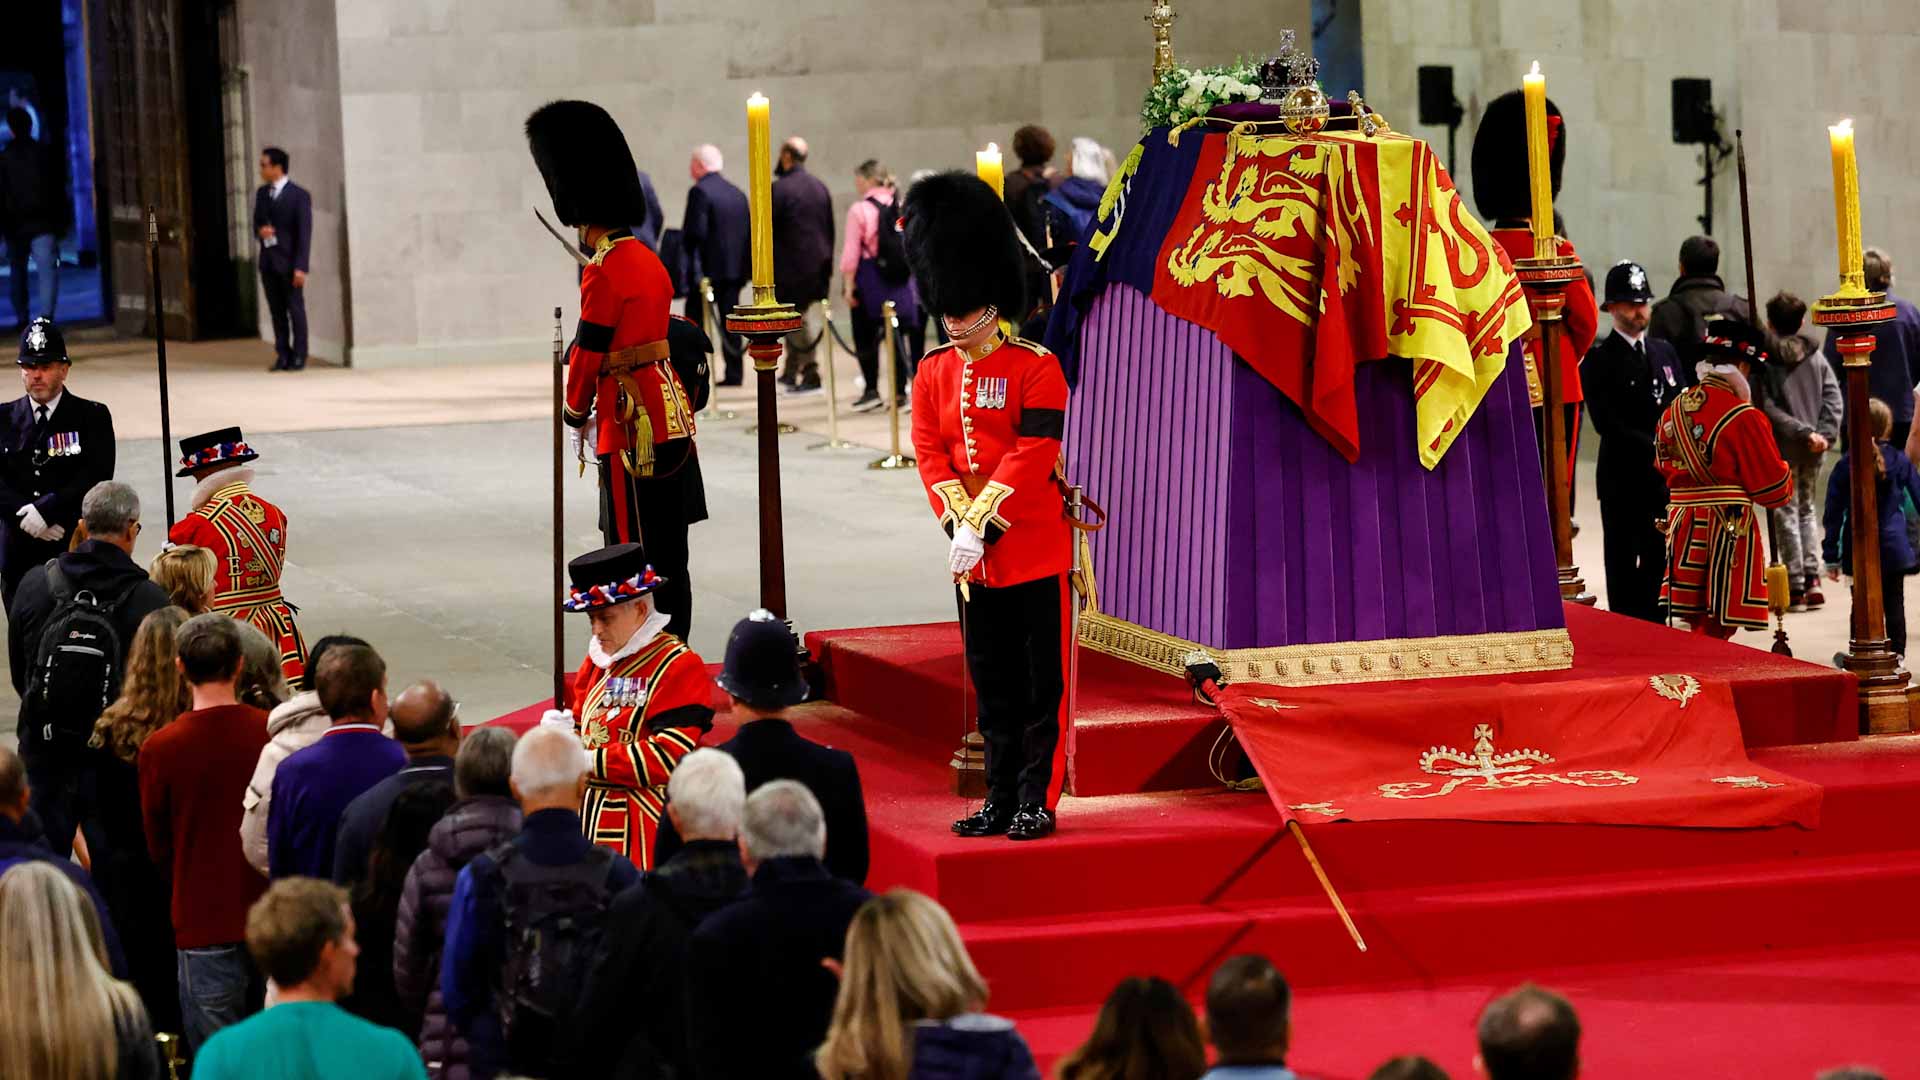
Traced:
<path fill-rule="evenodd" d="M 280 646 L 280 673 L 300 686 L 307 673 L 307 642 L 294 625 L 294 607 L 280 596 L 286 565 L 286 515 L 253 494 L 244 479 L 221 484 L 167 530 L 173 544 L 213 552 L 213 609 L 261 628 Z"/>

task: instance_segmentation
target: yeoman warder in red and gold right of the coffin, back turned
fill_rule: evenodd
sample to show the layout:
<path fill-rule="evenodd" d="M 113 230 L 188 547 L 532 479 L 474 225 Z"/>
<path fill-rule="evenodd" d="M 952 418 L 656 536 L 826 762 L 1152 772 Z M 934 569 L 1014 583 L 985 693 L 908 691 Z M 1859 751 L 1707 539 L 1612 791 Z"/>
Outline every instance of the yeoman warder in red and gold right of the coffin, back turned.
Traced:
<path fill-rule="evenodd" d="M 1766 340 L 1734 319 L 1707 323 L 1699 386 L 1684 390 L 1655 430 L 1655 465 L 1667 477 L 1667 600 L 1695 632 L 1730 638 L 1766 626 L 1766 557 L 1753 503 L 1793 494 L 1766 413 L 1747 379 L 1768 363 Z"/>

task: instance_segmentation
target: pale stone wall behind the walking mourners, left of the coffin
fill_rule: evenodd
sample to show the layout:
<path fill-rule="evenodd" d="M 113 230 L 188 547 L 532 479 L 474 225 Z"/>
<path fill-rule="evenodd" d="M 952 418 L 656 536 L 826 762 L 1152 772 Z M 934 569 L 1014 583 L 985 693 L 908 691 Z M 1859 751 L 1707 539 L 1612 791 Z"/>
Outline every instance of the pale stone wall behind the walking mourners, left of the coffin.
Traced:
<path fill-rule="evenodd" d="M 555 306 L 572 327 L 572 263 L 534 221 L 551 204 L 520 127 L 545 100 L 607 106 L 676 225 L 699 142 L 745 186 L 755 90 L 845 206 L 866 158 L 902 179 L 970 167 L 1029 121 L 1062 150 L 1091 135 L 1125 154 L 1152 65 L 1146 0 L 330 2 L 363 367 L 545 356 Z M 1177 8 L 1183 63 L 1308 27 L 1308 0 Z"/>

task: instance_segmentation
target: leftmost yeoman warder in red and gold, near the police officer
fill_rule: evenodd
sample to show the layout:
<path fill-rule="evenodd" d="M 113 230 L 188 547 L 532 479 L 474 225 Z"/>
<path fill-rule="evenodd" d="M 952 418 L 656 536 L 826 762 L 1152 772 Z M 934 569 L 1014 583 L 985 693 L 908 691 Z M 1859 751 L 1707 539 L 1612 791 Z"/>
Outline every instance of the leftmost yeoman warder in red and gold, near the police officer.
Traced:
<path fill-rule="evenodd" d="M 298 688 L 307 673 L 307 642 L 294 625 L 294 605 L 280 596 L 286 513 L 253 494 L 253 471 L 244 465 L 255 457 L 236 427 L 182 438 L 177 475 L 200 486 L 192 513 L 173 523 L 167 542 L 213 552 L 213 609 L 259 626 L 278 644 L 286 684 Z"/>

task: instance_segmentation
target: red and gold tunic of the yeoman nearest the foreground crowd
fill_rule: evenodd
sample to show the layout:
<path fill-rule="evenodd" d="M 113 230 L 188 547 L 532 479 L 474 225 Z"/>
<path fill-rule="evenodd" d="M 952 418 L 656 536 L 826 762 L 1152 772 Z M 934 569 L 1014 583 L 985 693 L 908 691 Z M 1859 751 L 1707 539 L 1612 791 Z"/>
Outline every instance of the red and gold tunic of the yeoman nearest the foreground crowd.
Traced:
<path fill-rule="evenodd" d="M 605 671 L 589 657 L 574 675 L 574 717 L 588 748 L 588 840 L 653 867 L 653 834 L 666 809 L 666 778 L 712 726 L 712 680 L 699 653 L 657 634 Z"/>

